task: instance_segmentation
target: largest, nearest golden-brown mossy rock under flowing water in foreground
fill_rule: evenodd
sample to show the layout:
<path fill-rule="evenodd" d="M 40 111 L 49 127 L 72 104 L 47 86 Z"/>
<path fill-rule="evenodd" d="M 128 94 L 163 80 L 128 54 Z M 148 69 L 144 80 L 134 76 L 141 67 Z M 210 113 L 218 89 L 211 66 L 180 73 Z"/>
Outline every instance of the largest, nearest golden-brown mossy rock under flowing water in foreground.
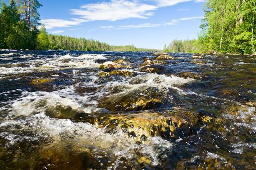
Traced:
<path fill-rule="evenodd" d="M 197 113 L 185 110 L 166 112 L 143 112 L 131 114 L 109 114 L 91 119 L 90 123 L 98 125 L 108 133 L 123 132 L 136 142 L 148 137 L 160 136 L 176 140 L 191 134 L 197 124 Z M 148 161 L 148 160 L 147 160 Z"/>

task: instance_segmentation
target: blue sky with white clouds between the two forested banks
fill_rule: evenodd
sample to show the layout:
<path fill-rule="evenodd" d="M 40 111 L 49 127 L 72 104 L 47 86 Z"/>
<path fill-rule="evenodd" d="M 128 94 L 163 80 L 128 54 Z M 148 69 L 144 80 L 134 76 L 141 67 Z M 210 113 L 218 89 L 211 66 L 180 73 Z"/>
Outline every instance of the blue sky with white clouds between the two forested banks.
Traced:
<path fill-rule="evenodd" d="M 163 49 L 173 39 L 194 39 L 204 0 L 39 0 L 47 32 L 110 45 Z"/>

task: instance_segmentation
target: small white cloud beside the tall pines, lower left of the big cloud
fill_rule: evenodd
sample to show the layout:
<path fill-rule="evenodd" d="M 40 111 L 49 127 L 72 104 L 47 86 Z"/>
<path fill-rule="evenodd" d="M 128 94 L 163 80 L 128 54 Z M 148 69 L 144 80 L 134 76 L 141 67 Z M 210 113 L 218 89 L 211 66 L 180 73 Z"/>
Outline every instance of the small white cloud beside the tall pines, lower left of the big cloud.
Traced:
<path fill-rule="evenodd" d="M 63 28 L 63 27 L 70 27 L 74 25 L 79 25 L 82 22 L 86 22 L 87 20 L 84 19 L 73 19 L 71 21 L 69 20 L 63 20 L 63 19 L 41 19 L 41 23 L 45 24 L 46 29 L 52 29 L 52 28 Z"/>

